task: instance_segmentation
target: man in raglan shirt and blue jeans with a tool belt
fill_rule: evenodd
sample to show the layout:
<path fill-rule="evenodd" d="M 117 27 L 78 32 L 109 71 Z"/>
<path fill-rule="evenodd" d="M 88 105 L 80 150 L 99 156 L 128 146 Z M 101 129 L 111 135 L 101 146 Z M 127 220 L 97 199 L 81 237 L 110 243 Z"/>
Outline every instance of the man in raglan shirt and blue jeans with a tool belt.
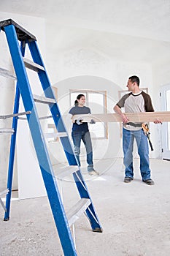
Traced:
<path fill-rule="evenodd" d="M 128 94 L 125 94 L 113 108 L 119 114 L 123 121 L 123 163 L 125 165 L 125 178 L 124 182 L 131 182 L 134 178 L 133 167 L 133 147 L 134 138 L 136 139 L 138 154 L 140 157 L 140 171 L 142 181 L 147 185 L 154 185 L 154 181 L 150 178 L 150 159 L 149 159 L 149 146 L 147 136 L 144 135 L 141 123 L 128 122 L 125 113 L 136 112 L 153 112 L 152 101 L 150 95 L 139 89 L 139 78 L 136 75 L 128 78 Z M 125 113 L 121 111 L 125 108 Z M 161 123 L 157 120 L 155 124 Z"/>

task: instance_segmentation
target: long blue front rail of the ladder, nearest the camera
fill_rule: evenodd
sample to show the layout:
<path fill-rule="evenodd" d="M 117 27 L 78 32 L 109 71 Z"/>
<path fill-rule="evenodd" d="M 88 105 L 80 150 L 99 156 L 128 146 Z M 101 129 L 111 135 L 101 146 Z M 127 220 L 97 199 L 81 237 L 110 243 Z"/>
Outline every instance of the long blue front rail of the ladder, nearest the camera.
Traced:
<path fill-rule="evenodd" d="M 31 110 L 31 115 L 27 116 L 28 124 L 34 141 L 34 147 L 36 150 L 37 159 L 39 161 L 39 167 L 42 172 L 42 178 L 45 182 L 51 210 L 53 211 L 55 225 L 58 229 L 61 245 L 63 246 L 63 252 L 65 255 L 75 256 L 77 255 L 77 252 L 74 248 L 72 233 L 69 229 L 69 223 L 66 219 L 66 213 L 64 211 L 63 204 L 61 202 L 61 196 L 58 192 L 57 182 L 53 174 L 53 167 L 50 162 L 45 138 L 36 112 L 36 106 L 34 103 L 33 94 L 31 92 L 31 87 L 28 82 L 26 67 L 23 63 L 23 57 L 20 53 L 15 27 L 9 25 L 4 27 L 4 30 L 7 36 L 7 42 L 12 56 L 15 73 L 18 78 L 18 86 L 23 99 L 23 105 L 26 111 Z"/>

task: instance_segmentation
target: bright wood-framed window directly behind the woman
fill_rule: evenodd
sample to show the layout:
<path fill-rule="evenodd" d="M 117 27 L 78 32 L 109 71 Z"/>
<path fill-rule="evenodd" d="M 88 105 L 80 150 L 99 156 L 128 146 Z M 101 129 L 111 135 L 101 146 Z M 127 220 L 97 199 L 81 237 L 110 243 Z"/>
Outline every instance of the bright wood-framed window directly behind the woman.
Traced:
<path fill-rule="evenodd" d="M 92 114 L 107 113 L 107 91 L 87 91 L 87 90 L 70 90 L 70 107 L 74 106 L 74 101 L 78 94 L 85 95 L 85 105 L 90 108 Z M 97 122 L 89 125 L 91 138 L 107 138 L 107 124 Z"/>

